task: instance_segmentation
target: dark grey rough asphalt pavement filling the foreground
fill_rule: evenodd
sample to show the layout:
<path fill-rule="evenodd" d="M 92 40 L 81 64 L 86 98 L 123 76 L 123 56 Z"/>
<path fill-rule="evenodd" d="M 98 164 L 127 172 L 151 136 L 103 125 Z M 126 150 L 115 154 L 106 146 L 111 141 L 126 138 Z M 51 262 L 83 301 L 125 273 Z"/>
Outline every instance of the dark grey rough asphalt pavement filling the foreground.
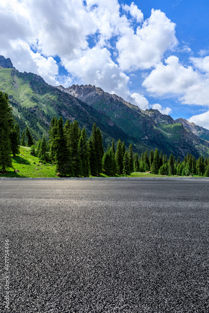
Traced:
<path fill-rule="evenodd" d="M 209 181 L 0 181 L 0 219 L 1 312 L 209 312 Z"/>

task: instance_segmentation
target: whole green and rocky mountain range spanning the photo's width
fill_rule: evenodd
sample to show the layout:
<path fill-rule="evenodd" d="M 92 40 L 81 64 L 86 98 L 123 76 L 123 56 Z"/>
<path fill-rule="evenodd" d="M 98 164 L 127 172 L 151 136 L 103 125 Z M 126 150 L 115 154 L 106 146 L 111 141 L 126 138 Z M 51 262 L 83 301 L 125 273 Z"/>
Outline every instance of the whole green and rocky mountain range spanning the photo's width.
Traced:
<path fill-rule="evenodd" d="M 106 148 L 119 138 L 134 151 L 159 151 L 183 158 L 187 152 L 196 157 L 209 156 L 209 131 L 184 119 L 173 120 L 158 110 L 141 110 L 118 95 L 100 87 L 51 86 L 33 73 L 20 73 L 11 60 L 0 56 L 0 90 L 7 92 L 21 131 L 26 126 L 37 140 L 47 136 L 52 116 L 77 120 L 88 134 L 94 123 L 100 127 Z"/>

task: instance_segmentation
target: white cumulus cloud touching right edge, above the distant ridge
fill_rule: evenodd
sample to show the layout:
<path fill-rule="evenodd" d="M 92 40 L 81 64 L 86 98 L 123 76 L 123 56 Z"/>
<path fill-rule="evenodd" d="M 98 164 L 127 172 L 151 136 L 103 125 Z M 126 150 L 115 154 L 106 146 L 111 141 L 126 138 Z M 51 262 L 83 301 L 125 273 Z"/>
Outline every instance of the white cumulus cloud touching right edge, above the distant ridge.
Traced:
<path fill-rule="evenodd" d="M 156 65 L 142 83 L 147 91 L 154 96 L 177 95 L 182 104 L 209 105 L 207 75 L 195 71 L 191 66 L 180 64 L 174 55 L 167 58 L 165 63 L 167 65 Z"/>

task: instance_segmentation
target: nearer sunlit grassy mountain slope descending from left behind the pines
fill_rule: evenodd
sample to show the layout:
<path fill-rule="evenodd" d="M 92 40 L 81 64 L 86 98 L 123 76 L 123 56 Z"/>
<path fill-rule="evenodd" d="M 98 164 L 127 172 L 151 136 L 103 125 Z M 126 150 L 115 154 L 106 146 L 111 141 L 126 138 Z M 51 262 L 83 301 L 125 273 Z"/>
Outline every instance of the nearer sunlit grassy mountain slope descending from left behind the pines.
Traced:
<path fill-rule="evenodd" d="M 125 133 L 103 110 L 95 110 L 91 105 L 48 85 L 43 78 L 33 73 L 20 73 L 12 68 L 0 68 L 0 90 L 7 92 L 13 106 L 13 113 L 21 131 L 26 126 L 37 140 L 47 134 L 52 116 L 63 117 L 64 121 L 77 120 L 86 127 L 88 134 L 96 123 L 102 130 L 103 144 L 107 147 L 112 137 L 121 138 L 126 146 L 133 143 L 134 150 L 141 153 L 150 147 Z"/>

